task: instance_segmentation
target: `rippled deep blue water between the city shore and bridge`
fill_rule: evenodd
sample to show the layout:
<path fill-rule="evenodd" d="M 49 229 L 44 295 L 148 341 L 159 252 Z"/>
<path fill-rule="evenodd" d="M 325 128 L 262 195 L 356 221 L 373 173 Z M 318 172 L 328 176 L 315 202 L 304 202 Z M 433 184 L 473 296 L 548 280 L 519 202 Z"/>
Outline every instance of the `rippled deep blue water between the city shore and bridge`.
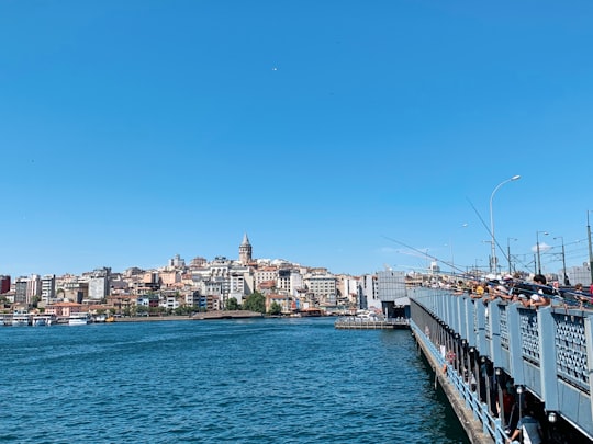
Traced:
<path fill-rule="evenodd" d="M 409 331 L 2 327 L 0 441 L 468 443 Z"/>

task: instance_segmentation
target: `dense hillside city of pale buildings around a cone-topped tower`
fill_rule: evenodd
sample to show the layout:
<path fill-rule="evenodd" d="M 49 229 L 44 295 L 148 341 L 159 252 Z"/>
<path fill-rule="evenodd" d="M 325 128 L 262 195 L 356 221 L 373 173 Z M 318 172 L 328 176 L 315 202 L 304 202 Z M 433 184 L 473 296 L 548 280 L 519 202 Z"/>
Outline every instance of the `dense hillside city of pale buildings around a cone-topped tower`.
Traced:
<path fill-rule="evenodd" d="M 74 312 L 115 316 L 190 315 L 240 308 L 251 294 L 265 296 L 266 312 L 356 310 L 376 298 L 372 276 L 334 275 L 324 267 L 283 260 L 255 260 L 244 235 L 238 260 L 194 258 L 189 264 L 176 254 L 156 270 L 110 267 L 81 275 L 16 277 L 0 275 L 3 312 L 33 311 L 68 317 Z M 368 285 L 367 285 L 368 284 Z M 367 293 L 368 287 L 370 295 Z M 2 305 L 3 304 L 3 305 Z M 367 304 L 365 304 L 367 305 Z M 380 307 L 380 303 L 379 303 Z"/>

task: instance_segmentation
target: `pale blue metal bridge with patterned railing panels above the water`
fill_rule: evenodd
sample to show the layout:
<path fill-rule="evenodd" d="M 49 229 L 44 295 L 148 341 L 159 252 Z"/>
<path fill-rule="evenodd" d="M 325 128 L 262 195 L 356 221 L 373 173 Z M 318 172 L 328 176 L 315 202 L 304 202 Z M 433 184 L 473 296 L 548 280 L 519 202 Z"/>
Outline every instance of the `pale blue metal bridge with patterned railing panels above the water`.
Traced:
<path fill-rule="evenodd" d="M 545 442 L 593 442 L 593 311 L 406 293 L 418 348 L 473 443 L 505 443 L 522 409 L 534 410 Z"/>

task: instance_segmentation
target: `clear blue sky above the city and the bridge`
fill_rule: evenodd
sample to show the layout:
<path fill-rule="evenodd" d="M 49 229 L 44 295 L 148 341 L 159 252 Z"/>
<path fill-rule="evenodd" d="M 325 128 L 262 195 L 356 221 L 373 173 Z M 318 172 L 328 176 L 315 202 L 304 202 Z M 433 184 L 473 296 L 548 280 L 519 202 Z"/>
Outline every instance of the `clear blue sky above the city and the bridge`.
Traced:
<path fill-rule="evenodd" d="M 592 23 L 590 0 L 2 0 L 0 274 L 235 259 L 245 232 L 334 273 L 486 267 L 515 174 L 503 250 L 533 270 L 539 237 L 556 272 L 562 237 L 582 264 Z"/>

